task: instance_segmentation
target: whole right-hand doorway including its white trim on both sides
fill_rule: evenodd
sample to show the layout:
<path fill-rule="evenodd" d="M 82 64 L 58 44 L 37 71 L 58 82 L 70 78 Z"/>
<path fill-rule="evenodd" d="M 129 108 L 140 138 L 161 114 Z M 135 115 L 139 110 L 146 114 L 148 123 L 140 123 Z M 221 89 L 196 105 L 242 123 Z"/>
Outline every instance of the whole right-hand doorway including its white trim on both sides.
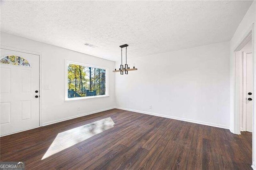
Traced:
<path fill-rule="evenodd" d="M 241 134 L 252 132 L 252 167 L 256 167 L 256 105 L 254 99 L 256 90 L 256 58 L 254 24 L 234 49 L 234 119 L 231 120 L 231 132 Z"/>

